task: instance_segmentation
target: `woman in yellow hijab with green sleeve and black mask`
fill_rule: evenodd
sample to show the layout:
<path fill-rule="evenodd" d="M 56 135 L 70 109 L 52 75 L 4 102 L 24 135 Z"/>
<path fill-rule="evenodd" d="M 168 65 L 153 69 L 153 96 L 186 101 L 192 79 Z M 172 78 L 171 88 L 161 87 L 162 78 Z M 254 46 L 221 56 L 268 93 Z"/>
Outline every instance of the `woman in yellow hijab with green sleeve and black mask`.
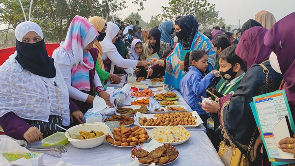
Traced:
<path fill-rule="evenodd" d="M 104 85 L 104 82 L 106 80 L 111 80 L 114 83 L 120 83 L 121 78 L 119 78 L 115 74 L 110 74 L 109 72 L 105 71 L 103 61 L 101 58 L 102 48 L 99 42 L 103 41 L 104 37 L 106 36 L 107 21 L 102 17 L 94 16 L 89 18 L 89 22 L 96 28 L 96 30 L 99 33 L 99 36 L 97 37 L 97 40 L 94 43 L 94 47 L 98 50 L 95 70 L 100 78 L 102 85 Z"/>

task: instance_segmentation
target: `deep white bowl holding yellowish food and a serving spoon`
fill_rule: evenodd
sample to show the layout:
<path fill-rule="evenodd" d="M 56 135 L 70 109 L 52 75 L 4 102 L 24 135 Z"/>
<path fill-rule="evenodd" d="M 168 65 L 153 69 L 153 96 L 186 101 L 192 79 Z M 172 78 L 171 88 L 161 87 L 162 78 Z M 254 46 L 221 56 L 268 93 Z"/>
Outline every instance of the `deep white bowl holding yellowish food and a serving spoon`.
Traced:
<path fill-rule="evenodd" d="M 79 134 L 80 131 L 90 132 L 91 130 L 97 132 L 102 131 L 104 133 L 103 136 L 92 139 L 73 139 L 70 138 L 69 132 L 65 132 L 65 137 L 68 138 L 71 144 L 81 149 L 89 149 L 99 146 L 103 143 L 109 133 L 109 127 L 101 122 L 79 124 L 69 128 L 68 130 L 74 134 Z"/>

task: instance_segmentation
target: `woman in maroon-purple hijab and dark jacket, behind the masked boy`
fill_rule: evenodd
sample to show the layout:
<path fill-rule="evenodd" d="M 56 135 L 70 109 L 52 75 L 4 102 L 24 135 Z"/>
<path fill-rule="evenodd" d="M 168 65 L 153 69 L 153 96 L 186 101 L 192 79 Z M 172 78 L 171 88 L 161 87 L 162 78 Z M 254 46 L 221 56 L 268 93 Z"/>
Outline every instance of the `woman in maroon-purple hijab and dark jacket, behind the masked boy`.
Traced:
<path fill-rule="evenodd" d="M 265 61 L 271 52 L 263 45 L 266 31 L 266 28 L 255 27 L 244 32 L 236 47 L 236 55 L 247 63 L 248 71 L 233 96 L 219 99 L 218 115 L 222 130 L 220 136 L 226 139 L 229 145 L 237 147 L 242 154 L 248 153 L 250 166 L 261 165 L 262 155 L 255 159 L 254 150 L 251 148 L 248 151 L 253 133 L 255 139 L 260 137 L 249 104 L 253 102 L 254 96 L 277 90 L 282 80 L 282 75 L 271 68 L 269 61 Z M 266 88 L 266 75 L 259 63 L 263 63 L 269 71 L 269 90 Z"/>

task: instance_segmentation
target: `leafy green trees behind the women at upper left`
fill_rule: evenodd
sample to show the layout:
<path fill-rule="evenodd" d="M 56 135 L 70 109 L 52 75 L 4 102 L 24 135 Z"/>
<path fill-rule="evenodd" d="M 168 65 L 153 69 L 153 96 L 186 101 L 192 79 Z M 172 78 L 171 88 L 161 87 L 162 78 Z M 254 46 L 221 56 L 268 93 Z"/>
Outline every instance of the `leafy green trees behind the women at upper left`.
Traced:
<path fill-rule="evenodd" d="M 27 18 L 29 1 L 22 0 Z M 139 4 L 138 10 L 142 10 L 144 1 L 146 0 L 133 0 L 132 3 Z M 113 12 L 126 8 L 125 0 L 109 0 L 109 2 Z M 67 28 L 75 15 L 85 18 L 96 15 L 105 18 L 109 16 L 108 7 L 106 0 L 34 0 L 31 21 L 39 24 L 46 41 L 60 42 L 65 38 Z M 7 28 L 0 30 L 1 35 L 14 30 L 23 21 L 25 19 L 18 0 L 0 0 L 0 25 L 7 25 Z"/>

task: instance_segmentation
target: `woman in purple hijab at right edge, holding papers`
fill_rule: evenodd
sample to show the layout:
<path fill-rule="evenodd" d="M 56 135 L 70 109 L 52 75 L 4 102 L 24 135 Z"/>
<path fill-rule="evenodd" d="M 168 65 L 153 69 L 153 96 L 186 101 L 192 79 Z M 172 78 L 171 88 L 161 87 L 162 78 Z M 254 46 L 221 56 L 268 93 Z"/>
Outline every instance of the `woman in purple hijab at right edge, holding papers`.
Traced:
<path fill-rule="evenodd" d="M 284 77 L 284 86 L 293 118 L 295 117 L 295 12 L 284 17 L 273 25 L 264 38 L 264 43 L 273 52 L 270 55 L 270 64 Z M 293 140 L 292 140 L 293 139 Z M 284 152 L 295 154 L 295 139 L 284 138 L 279 142 L 279 148 Z M 288 145 L 291 147 L 287 148 Z"/>

